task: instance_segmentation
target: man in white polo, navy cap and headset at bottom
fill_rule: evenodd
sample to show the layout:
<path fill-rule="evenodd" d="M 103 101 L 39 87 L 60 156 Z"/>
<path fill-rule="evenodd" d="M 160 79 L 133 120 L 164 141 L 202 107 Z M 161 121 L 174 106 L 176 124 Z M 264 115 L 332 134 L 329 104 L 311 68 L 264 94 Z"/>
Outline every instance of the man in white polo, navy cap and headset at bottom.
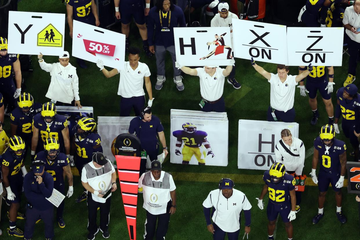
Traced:
<path fill-rule="evenodd" d="M 233 180 L 222 178 L 219 189 L 212 190 L 203 202 L 207 230 L 213 234 L 214 240 L 224 240 L 226 233 L 229 240 L 239 239 L 242 210 L 245 215 L 245 234 L 250 232 L 251 204 L 244 193 L 233 189 L 234 186 Z M 213 223 L 210 218 L 211 208 Z"/>

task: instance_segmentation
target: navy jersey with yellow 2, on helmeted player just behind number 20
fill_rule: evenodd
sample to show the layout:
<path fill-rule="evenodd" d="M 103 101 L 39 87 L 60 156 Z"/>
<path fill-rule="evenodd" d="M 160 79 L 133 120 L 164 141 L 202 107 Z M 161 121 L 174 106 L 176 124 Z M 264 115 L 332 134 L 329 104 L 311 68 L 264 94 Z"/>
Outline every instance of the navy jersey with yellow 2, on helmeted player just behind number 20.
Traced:
<path fill-rule="evenodd" d="M 10 122 L 18 126 L 16 135 L 28 139 L 32 137 L 32 119 L 33 117 L 41 112 L 42 105 L 40 103 L 34 103 L 32 111 L 26 115 L 22 112 L 21 108 L 16 107 L 10 113 Z"/>

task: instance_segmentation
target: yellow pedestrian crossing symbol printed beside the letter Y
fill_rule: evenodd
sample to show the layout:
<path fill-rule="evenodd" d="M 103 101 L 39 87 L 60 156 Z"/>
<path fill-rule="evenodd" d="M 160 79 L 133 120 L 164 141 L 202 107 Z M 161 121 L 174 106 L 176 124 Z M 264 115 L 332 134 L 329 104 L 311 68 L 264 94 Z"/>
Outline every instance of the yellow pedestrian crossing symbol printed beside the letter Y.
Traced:
<path fill-rule="evenodd" d="M 50 23 L 37 34 L 37 46 L 62 47 L 63 35 Z"/>

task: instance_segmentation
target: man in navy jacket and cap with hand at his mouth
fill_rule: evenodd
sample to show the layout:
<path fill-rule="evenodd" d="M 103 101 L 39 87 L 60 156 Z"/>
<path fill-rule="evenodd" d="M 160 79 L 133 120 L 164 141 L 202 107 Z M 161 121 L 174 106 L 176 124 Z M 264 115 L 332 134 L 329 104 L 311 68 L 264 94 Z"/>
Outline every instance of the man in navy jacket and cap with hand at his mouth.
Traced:
<path fill-rule="evenodd" d="M 40 218 L 44 221 L 45 238 L 54 238 L 54 206 L 45 198 L 50 198 L 54 190 L 54 178 L 44 171 L 45 163 L 36 160 L 32 171 L 24 177 L 24 194 L 28 200 L 24 237 L 31 239 L 35 223 Z"/>

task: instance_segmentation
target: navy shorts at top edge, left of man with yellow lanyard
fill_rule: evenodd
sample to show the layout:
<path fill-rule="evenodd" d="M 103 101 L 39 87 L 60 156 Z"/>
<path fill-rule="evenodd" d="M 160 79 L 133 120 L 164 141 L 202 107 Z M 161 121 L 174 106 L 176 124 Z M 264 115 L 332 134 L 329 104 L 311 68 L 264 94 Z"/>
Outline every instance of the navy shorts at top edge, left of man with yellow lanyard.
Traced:
<path fill-rule="evenodd" d="M 120 1 L 120 20 L 122 24 L 129 24 L 131 16 L 137 24 L 145 24 L 145 13 L 143 1 L 134 0 L 133 2 Z"/>

